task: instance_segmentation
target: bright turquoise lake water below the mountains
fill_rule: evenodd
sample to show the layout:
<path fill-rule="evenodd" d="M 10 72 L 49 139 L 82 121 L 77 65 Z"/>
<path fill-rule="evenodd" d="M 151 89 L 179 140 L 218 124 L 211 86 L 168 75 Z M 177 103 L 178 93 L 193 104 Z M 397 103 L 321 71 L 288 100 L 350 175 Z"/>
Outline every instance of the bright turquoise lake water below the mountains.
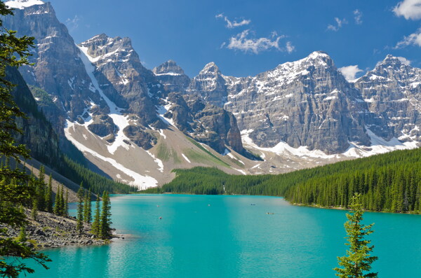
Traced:
<path fill-rule="evenodd" d="M 117 195 L 111 201 L 113 227 L 125 239 L 45 251 L 51 269 L 35 267 L 27 277 L 326 278 L 335 277 L 336 257 L 347 249 L 345 211 L 295 207 L 280 197 Z M 421 277 L 421 216 L 366 213 L 364 223 L 373 222 L 369 239 L 379 277 Z"/>

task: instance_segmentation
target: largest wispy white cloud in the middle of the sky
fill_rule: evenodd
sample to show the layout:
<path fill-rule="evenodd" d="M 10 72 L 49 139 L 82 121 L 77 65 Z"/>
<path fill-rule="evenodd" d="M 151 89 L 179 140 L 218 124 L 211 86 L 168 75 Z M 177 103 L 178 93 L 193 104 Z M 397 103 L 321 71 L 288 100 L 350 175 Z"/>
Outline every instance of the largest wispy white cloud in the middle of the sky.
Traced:
<path fill-rule="evenodd" d="M 227 48 L 233 49 L 233 50 L 241 50 L 244 53 L 253 52 L 255 54 L 258 54 L 262 51 L 269 50 L 271 48 L 275 48 L 279 51 L 293 51 L 294 47 L 291 43 L 287 43 L 287 48 L 283 49 L 279 47 L 279 40 L 283 39 L 285 36 L 278 36 L 276 32 L 272 32 L 272 36 L 269 38 L 259 38 L 259 39 L 253 39 L 249 38 L 248 34 L 250 33 L 250 30 L 244 30 L 243 32 L 236 34 L 236 36 L 232 36 L 229 39 L 229 43 Z"/>

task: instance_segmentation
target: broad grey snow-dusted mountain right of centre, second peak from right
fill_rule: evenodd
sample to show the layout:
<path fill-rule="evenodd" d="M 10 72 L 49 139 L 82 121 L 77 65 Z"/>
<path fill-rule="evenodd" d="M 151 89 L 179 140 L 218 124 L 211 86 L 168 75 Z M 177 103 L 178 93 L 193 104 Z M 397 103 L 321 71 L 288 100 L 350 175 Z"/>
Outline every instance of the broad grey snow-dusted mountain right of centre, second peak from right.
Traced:
<path fill-rule="evenodd" d="M 225 109 L 259 146 L 285 141 L 295 148 L 342 153 L 348 141 L 370 144 L 361 116 L 368 107 L 326 53 L 312 53 L 258 76 L 226 80 Z"/>

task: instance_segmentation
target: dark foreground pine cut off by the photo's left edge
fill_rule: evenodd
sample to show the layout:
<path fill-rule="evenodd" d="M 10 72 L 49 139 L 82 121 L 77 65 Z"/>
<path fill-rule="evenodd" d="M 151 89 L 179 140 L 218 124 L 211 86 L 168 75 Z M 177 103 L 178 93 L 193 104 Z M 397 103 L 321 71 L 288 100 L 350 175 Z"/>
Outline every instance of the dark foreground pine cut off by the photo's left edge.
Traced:
<path fill-rule="evenodd" d="M 0 1 L 1 18 L 11 15 L 13 10 L 8 8 L 4 1 Z M 25 114 L 13 100 L 11 91 L 15 85 L 6 80 L 6 68 L 29 64 L 28 48 L 33 46 L 34 38 L 27 36 L 18 38 L 15 31 L 3 26 L 2 20 L 0 20 L 0 156 L 6 160 L 13 158 L 19 164 L 21 158 L 29 158 L 29 151 L 24 145 L 15 144 L 13 136 L 22 134 L 15 119 L 25 117 Z M 11 169 L 8 165 L 3 165 L 0 169 L 0 180 L 0 224 L 2 227 L 5 225 L 21 227 L 25 224 L 25 214 L 19 207 L 28 204 L 31 196 L 36 194 L 34 188 L 27 186 L 29 176 L 21 169 Z M 46 267 L 47 261 L 51 261 L 43 253 L 32 251 L 25 244 L 15 242 L 8 236 L 6 228 L 0 228 L 0 233 L 4 235 L 0 237 L 0 277 L 18 277 L 22 272 L 34 272 L 23 262 L 10 263 L 13 262 L 13 257 L 33 259 L 43 267 Z M 12 257 L 12 260 L 6 261 L 7 257 Z"/>

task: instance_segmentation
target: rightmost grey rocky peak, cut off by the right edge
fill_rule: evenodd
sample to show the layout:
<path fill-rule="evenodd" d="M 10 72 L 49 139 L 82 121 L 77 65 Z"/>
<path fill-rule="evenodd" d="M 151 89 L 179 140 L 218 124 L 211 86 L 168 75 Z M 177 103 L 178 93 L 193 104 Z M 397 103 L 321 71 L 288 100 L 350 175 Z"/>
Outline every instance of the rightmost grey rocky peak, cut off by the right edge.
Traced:
<path fill-rule="evenodd" d="M 387 55 L 355 82 L 371 112 L 382 117 L 389 137 L 420 141 L 421 69 Z"/>

